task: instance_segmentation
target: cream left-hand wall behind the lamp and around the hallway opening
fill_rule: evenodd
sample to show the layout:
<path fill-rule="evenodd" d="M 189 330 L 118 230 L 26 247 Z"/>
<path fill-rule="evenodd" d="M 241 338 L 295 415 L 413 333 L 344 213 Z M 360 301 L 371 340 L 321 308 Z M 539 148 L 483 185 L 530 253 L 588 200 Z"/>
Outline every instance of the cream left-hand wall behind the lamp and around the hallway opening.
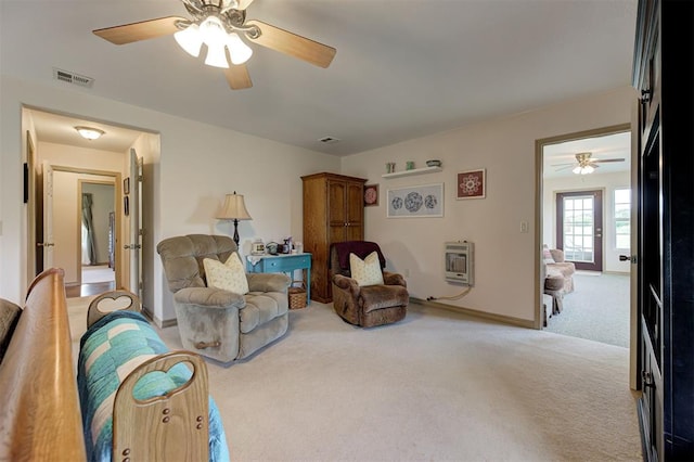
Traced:
<path fill-rule="evenodd" d="M 242 245 L 293 235 L 303 239 L 303 175 L 339 171 L 339 159 L 312 151 L 95 98 L 61 82 L 42 86 L 3 75 L 0 79 L 0 296 L 21 303 L 26 290 L 25 158 L 22 105 L 126 125 L 160 136 L 160 158 L 151 176 L 151 242 L 185 233 L 233 233 L 215 216 L 226 193 L 244 194 L 252 221 L 240 223 Z M 26 128 L 26 127 L 25 127 Z M 155 141 L 149 141 L 155 142 Z M 146 159 L 145 159 L 146 161 Z M 146 187 L 145 187 L 146 188 Z M 145 249 L 145 299 L 157 321 L 175 317 L 158 255 Z M 147 295 L 150 293 L 151 295 Z"/>

